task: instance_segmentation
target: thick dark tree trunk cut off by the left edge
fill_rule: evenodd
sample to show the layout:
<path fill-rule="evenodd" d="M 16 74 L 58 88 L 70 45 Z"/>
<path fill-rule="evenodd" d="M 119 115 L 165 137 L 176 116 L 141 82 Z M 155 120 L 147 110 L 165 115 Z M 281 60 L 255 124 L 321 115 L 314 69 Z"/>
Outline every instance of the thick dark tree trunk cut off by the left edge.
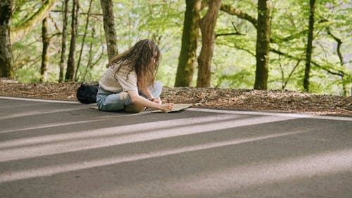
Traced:
<path fill-rule="evenodd" d="M 0 75 L 14 78 L 11 58 L 10 27 L 12 16 L 12 0 L 0 1 Z"/>

